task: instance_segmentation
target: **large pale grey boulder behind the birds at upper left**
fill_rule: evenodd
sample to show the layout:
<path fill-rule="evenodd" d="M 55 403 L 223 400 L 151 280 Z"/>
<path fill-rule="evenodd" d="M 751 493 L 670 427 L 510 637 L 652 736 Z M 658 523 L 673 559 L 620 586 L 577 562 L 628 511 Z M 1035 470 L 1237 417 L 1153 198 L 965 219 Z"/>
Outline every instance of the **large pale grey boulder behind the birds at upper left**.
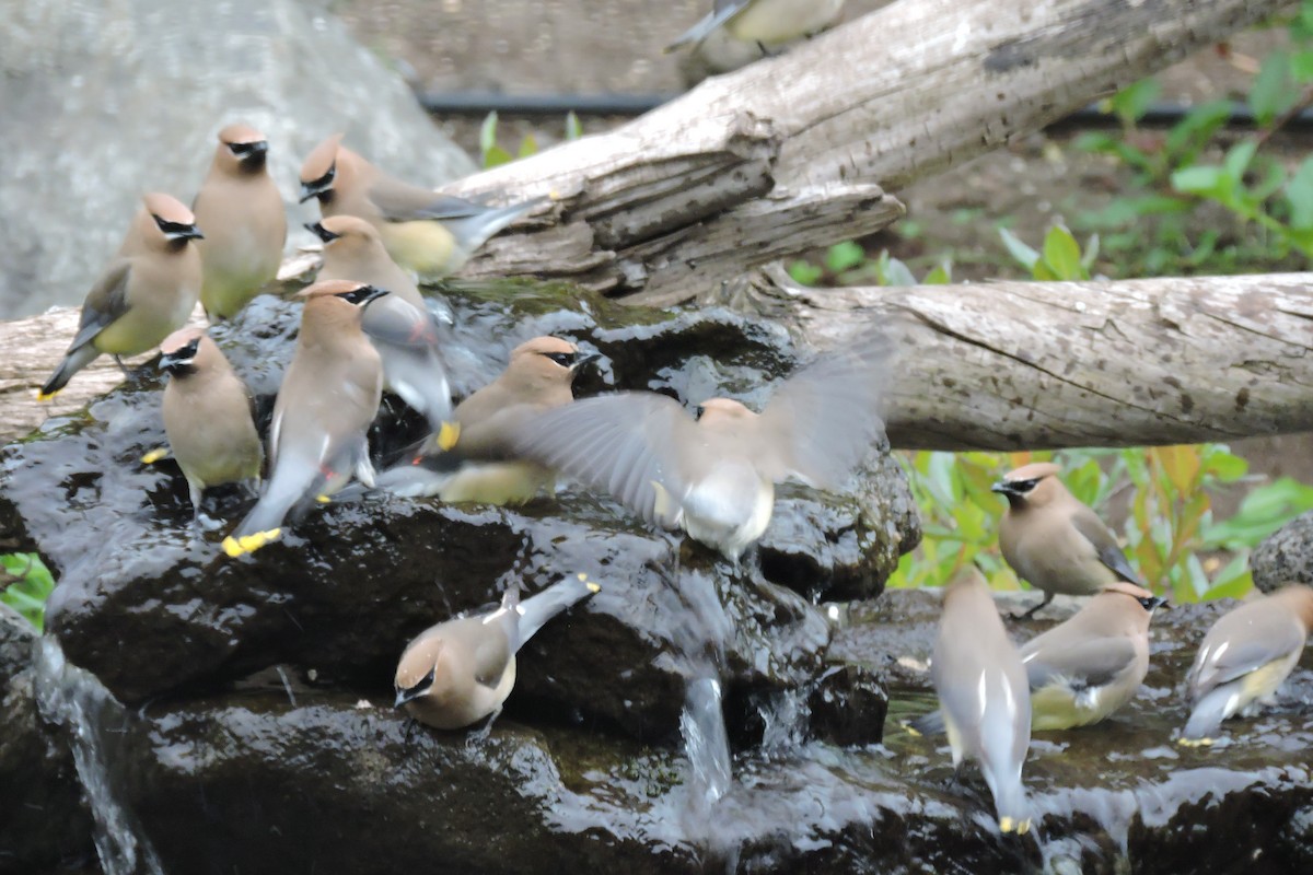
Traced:
<path fill-rule="evenodd" d="M 310 240 L 301 223 L 318 215 L 294 197 L 301 161 L 335 131 L 418 185 L 473 173 L 400 77 L 315 7 L 0 0 L 0 317 L 81 303 L 142 192 L 190 202 L 231 121 L 268 135 L 291 239 Z"/>

